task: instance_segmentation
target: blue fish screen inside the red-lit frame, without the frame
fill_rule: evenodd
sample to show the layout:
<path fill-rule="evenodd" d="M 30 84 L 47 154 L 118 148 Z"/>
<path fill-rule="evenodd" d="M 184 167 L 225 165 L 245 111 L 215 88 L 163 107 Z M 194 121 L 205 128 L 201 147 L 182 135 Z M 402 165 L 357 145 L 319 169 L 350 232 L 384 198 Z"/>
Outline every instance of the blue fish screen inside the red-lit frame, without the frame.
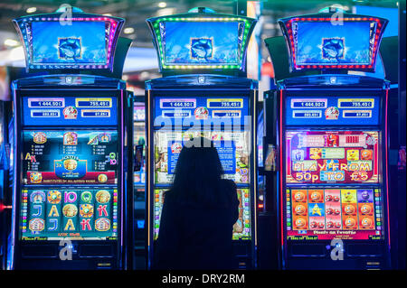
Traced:
<path fill-rule="evenodd" d="M 344 27 L 345 25 L 345 27 Z M 369 65 L 371 23 L 292 23 L 296 65 Z M 316 33 L 317 32 L 317 33 Z M 357 37 L 355 37 L 357 35 Z"/>

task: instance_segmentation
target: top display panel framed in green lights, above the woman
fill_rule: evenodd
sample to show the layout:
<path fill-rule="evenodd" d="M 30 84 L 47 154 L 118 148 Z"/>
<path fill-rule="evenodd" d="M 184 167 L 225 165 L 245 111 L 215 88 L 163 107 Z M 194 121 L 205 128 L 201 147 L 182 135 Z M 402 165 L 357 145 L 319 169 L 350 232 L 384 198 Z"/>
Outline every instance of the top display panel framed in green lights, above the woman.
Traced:
<path fill-rule="evenodd" d="M 178 14 L 147 23 L 160 70 L 244 70 L 256 21 L 228 14 Z"/>

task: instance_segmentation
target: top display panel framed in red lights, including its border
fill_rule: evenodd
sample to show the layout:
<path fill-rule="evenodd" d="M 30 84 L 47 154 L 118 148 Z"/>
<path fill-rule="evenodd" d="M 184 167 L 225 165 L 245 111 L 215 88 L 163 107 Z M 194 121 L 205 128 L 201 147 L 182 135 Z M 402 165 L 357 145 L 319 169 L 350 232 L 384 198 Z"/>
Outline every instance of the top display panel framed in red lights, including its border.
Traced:
<path fill-rule="evenodd" d="M 374 71 L 387 20 L 356 14 L 312 14 L 279 20 L 291 70 Z"/>

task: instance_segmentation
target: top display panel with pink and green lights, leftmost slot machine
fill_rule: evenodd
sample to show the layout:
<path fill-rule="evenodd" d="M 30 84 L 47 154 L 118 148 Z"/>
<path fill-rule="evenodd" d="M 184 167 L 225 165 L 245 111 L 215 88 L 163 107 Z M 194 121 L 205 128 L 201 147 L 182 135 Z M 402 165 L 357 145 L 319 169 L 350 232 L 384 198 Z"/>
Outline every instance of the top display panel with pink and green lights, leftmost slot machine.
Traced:
<path fill-rule="evenodd" d="M 39 14 L 14 20 L 33 70 L 112 70 L 124 20 L 96 14 Z"/>

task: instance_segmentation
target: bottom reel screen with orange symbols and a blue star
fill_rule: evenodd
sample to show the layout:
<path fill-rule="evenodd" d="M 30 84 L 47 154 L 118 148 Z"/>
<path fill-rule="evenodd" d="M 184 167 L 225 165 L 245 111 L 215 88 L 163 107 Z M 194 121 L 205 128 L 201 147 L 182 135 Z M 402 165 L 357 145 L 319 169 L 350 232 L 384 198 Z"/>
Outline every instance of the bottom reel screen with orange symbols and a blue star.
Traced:
<path fill-rule="evenodd" d="M 287 189 L 286 193 L 288 239 L 383 239 L 379 189 Z"/>

